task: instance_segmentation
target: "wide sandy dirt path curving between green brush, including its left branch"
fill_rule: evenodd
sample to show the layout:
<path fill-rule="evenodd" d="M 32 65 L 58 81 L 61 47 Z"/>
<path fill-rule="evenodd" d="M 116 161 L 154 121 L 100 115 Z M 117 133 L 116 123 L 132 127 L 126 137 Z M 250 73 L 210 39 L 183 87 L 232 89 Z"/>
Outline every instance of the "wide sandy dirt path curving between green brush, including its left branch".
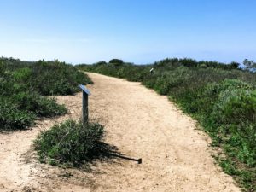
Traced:
<path fill-rule="evenodd" d="M 32 131 L 0 134 L 0 191 L 240 191 L 214 164 L 209 138 L 166 96 L 139 83 L 89 73 L 90 118 L 107 130 L 106 142 L 143 164 L 114 160 L 92 172 L 39 164 L 32 140 L 55 121 L 77 118 L 81 94 L 59 96 L 70 108 L 59 119 L 44 119 Z"/>

